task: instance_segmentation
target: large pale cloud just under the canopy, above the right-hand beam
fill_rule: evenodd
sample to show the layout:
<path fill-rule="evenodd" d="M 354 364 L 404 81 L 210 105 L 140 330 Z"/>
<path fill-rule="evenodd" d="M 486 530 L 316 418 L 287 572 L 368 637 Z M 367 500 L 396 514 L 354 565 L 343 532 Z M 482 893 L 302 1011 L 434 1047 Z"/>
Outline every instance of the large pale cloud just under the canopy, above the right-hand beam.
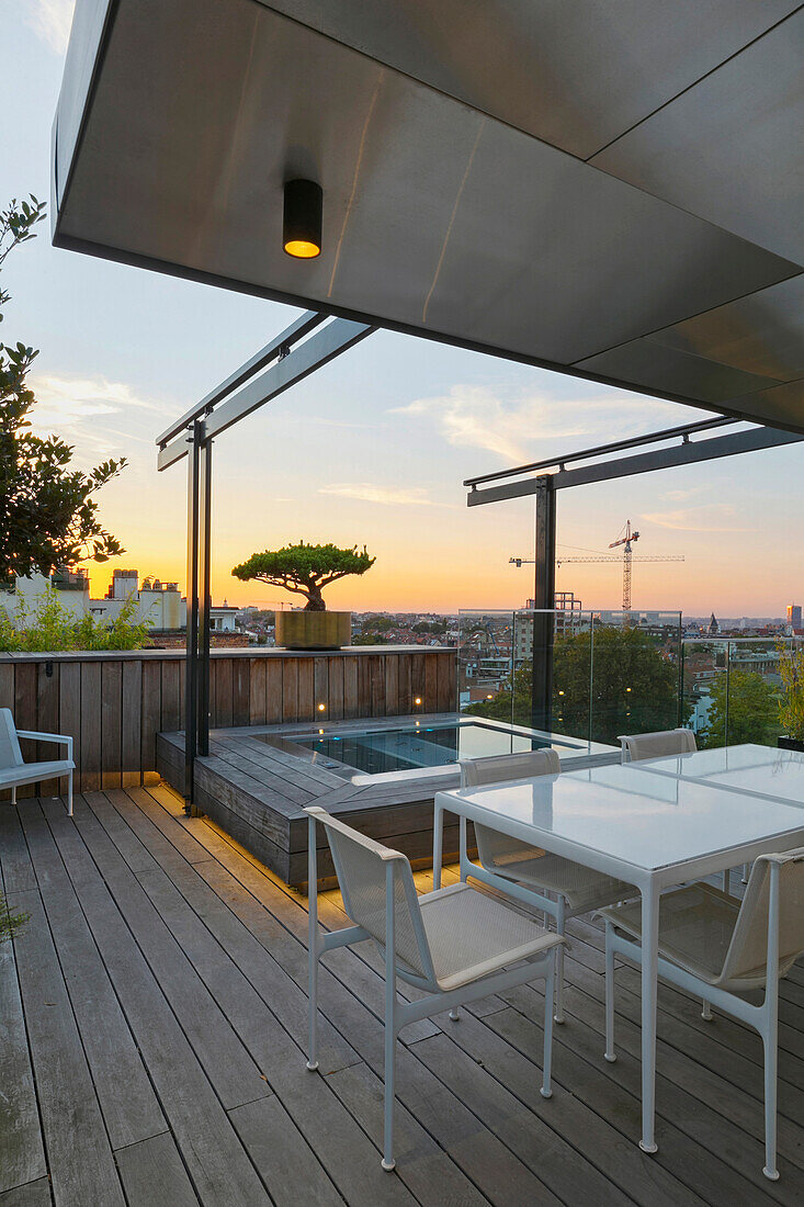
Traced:
<path fill-rule="evenodd" d="M 515 463 L 532 457 L 535 447 L 544 441 L 619 439 L 676 412 L 674 404 L 657 400 L 614 395 L 564 398 L 532 392 L 512 398 L 485 386 L 456 385 L 448 395 L 418 398 L 392 413 L 430 416 L 449 444 L 484 449 Z"/>

